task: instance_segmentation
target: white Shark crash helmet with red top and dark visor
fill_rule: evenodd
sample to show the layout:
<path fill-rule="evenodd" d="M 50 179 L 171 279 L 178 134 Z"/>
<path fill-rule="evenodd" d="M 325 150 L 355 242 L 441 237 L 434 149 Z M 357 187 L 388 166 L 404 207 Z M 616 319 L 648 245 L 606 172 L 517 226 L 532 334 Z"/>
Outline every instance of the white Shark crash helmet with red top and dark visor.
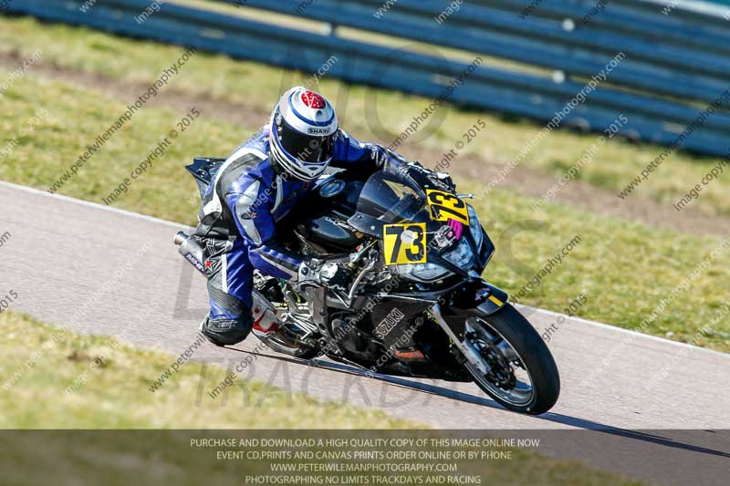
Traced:
<path fill-rule="evenodd" d="M 332 160 L 337 130 L 335 109 L 326 98 L 291 88 L 271 114 L 270 157 L 297 179 L 317 179 Z"/>

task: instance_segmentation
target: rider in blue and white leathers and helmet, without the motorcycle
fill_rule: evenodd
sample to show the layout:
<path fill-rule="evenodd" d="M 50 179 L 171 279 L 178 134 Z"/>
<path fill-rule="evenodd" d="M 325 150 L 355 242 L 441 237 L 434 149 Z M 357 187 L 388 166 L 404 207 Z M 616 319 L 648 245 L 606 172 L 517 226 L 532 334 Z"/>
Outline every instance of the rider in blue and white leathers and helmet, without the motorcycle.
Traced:
<path fill-rule="evenodd" d="M 258 336 L 276 333 L 276 315 L 252 295 L 255 269 L 296 286 L 309 281 L 344 289 L 347 275 L 336 264 L 320 264 L 279 244 L 276 223 L 330 163 L 374 172 L 404 162 L 339 129 L 335 110 L 318 93 L 302 87 L 284 93 L 266 126 L 224 161 L 203 196 L 194 233 L 203 247 L 211 307 L 203 335 L 226 346 L 252 329 Z"/>

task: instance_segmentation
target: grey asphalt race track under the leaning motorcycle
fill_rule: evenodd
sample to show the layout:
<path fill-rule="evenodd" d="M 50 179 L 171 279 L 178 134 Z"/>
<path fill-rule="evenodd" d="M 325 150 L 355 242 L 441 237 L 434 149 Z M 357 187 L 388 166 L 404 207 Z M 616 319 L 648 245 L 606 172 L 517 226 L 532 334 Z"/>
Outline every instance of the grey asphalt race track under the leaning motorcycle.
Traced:
<path fill-rule="evenodd" d="M 0 208 L 0 233 L 12 235 L 0 248 L 0 294 L 16 291 L 14 310 L 175 356 L 196 339 L 207 298 L 203 278 L 172 243 L 183 226 L 5 182 Z M 554 313 L 521 310 L 538 331 L 556 323 Z M 647 481 L 723 484 L 730 470 L 730 355 L 712 350 L 571 318 L 548 343 L 562 379 L 558 404 L 528 417 L 472 384 L 368 378 L 328 360 L 252 355 L 258 344 L 250 336 L 234 349 L 203 346 L 193 359 L 234 369 L 248 358 L 241 377 L 433 428 L 543 438 L 543 453 Z M 201 380 L 191 407 L 211 406 L 217 384 Z M 216 399 L 255 413 L 240 391 Z"/>

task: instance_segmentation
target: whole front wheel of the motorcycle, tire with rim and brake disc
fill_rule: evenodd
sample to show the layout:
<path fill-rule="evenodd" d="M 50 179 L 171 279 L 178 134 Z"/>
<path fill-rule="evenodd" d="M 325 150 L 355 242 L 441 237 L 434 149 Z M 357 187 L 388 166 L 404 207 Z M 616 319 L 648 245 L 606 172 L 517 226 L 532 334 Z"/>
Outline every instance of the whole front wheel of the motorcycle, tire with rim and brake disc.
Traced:
<path fill-rule="evenodd" d="M 479 388 L 521 413 L 539 415 L 555 405 L 560 394 L 555 360 L 535 328 L 512 305 L 492 315 L 474 311 L 465 326 L 464 345 L 472 347 L 485 365 L 464 364 Z"/>

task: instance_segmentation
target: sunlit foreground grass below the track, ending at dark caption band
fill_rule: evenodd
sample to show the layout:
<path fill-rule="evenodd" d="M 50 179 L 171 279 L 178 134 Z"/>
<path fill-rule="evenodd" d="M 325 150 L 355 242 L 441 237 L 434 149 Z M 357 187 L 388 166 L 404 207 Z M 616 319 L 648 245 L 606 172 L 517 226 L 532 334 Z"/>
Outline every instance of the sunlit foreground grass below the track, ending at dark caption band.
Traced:
<path fill-rule="evenodd" d="M 226 370 L 208 366 L 203 375 L 203 365 L 195 361 L 184 364 L 162 388 L 151 392 L 148 388 L 172 366 L 175 357 L 110 337 L 59 333 L 57 327 L 12 312 L 0 315 L 0 328 L 4 335 L 0 343 L 0 429 L 415 427 L 379 410 L 320 402 L 240 377 L 227 401 L 210 398 L 207 391 L 224 379 Z M 14 378 L 18 371 L 20 375 Z M 10 387 L 5 389 L 8 379 Z"/>

